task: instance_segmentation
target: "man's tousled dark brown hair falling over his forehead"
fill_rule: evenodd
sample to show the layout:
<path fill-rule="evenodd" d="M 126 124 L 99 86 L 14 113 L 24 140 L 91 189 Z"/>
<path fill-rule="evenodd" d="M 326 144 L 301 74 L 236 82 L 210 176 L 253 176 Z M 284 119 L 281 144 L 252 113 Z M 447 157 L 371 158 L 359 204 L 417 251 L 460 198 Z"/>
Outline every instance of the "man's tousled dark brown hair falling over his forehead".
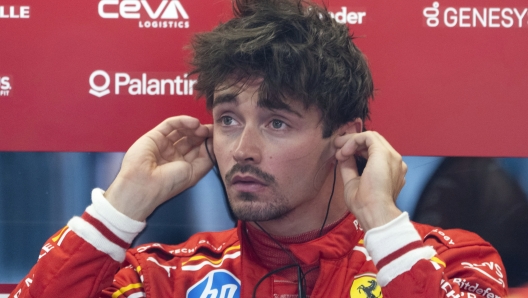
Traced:
<path fill-rule="evenodd" d="M 346 25 L 305 0 L 233 1 L 234 18 L 191 43 L 191 74 L 198 74 L 194 88 L 208 109 L 228 79 L 236 84 L 262 78 L 261 106 L 281 108 L 285 99 L 316 105 L 324 138 L 369 117 L 372 77 Z"/>

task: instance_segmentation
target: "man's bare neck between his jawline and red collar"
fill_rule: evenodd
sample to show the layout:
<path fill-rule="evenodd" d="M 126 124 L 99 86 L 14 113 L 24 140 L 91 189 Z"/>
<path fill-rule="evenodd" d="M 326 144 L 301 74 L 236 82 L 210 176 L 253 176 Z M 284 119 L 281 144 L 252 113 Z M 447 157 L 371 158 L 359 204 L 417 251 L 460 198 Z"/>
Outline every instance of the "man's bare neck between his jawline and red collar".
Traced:
<path fill-rule="evenodd" d="M 341 173 L 336 171 L 334 186 L 334 166 L 332 165 L 322 186 L 312 199 L 306 200 L 303 204 L 296 206 L 291 212 L 280 218 L 261 221 L 259 224 L 268 233 L 278 237 L 300 235 L 320 230 L 324 226 L 336 222 L 347 213 L 348 209 L 345 205 L 343 194 L 344 187 Z"/>

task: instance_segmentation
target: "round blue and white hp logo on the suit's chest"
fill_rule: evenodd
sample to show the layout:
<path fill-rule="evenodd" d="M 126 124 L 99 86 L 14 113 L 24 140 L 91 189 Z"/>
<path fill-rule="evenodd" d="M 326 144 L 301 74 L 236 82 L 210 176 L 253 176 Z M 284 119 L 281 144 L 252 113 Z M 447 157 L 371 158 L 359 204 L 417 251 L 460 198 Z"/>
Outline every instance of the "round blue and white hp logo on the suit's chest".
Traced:
<path fill-rule="evenodd" d="M 239 298 L 240 280 L 231 272 L 218 269 L 209 272 L 187 291 L 187 298 Z"/>

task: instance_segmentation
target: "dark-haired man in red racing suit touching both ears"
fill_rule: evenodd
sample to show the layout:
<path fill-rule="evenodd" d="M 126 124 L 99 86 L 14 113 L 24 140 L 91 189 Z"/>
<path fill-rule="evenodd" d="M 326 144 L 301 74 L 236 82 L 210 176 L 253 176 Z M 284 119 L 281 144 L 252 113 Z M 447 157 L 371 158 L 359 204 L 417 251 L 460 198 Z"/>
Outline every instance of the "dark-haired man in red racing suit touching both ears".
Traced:
<path fill-rule="evenodd" d="M 136 141 L 13 297 L 503 297 L 489 244 L 396 208 L 406 165 L 364 131 L 373 86 L 346 27 L 300 1 L 234 12 L 193 43 L 214 123 L 173 117 Z M 126 251 L 213 164 L 237 228 Z"/>

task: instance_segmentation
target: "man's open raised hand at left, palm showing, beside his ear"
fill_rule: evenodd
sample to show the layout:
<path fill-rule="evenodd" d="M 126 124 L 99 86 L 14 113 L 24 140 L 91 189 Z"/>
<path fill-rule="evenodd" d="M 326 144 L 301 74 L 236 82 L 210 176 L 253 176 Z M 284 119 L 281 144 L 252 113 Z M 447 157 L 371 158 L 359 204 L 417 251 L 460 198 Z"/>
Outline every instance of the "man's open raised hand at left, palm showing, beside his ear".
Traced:
<path fill-rule="evenodd" d="M 130 147 L 105 197 L 121 213 L 145 220 L 212 168 L 205 148 L 212 131 L 189 116 L 166 119 Z M 208 146 L 212 152 L 211 140 Z"/>

